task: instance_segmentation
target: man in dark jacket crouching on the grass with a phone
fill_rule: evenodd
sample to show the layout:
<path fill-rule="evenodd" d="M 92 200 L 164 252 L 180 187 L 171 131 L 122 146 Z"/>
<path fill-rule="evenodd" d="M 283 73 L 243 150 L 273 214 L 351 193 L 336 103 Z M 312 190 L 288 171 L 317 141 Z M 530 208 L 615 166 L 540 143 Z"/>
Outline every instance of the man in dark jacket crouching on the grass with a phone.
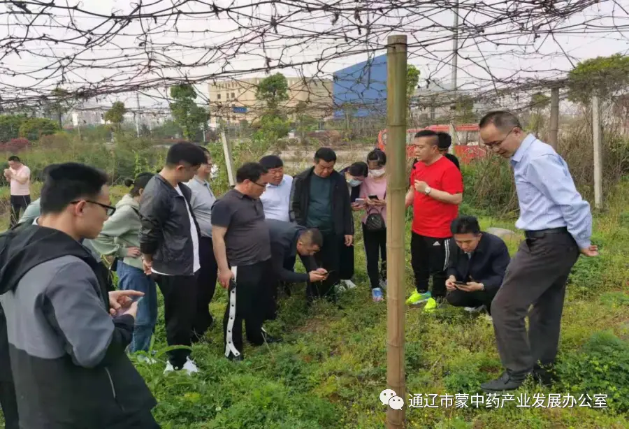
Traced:
<path fill-rule="evenodd" d="M 456 242 L 446 280 L 448 303 L 469 312 L 486 309 L 503 283 L 509 265 L 509 250 L 498 236 L 480 230 L 478 220 L 461 216 L 450 226 Z"/>

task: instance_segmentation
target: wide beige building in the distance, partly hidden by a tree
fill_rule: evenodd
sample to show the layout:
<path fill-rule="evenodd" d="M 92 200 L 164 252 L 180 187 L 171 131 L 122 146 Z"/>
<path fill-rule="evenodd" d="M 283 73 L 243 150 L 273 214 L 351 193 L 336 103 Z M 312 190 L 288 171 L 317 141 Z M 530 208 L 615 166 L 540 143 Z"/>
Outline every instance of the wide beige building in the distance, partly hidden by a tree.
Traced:
<path fill-rule="evenodd" d="M 238 124 L 258 119 L 264 103 L 256 99 L 256 91 L 264 78 L 220 80 L 208 85 L 210 97 L 210 126 L 223 120 L 227 124 Z M 284 108 L 289 117 L 294 117 L 298 103 L 305 103 L 306 114 L 324 118 L 332 108 L 331 80 L 317 78 L 287 78 L 289 99 Z"/>

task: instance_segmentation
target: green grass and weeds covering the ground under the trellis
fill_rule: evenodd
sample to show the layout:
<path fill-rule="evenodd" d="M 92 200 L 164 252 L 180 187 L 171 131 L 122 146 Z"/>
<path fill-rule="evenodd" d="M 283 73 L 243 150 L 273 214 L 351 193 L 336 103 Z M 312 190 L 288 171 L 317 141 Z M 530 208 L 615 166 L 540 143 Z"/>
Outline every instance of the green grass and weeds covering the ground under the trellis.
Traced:
<path fill-rule="evenodd" d="M 115 189 L 117 196 L 124 190 Z M 519 393 L 607 393 L 609 409 L 515 407 L 408 408 L 409 428 L 627 428 L 629 389 L 629 295 L 626 242 L 629 238 L 629 187 L 609 196 L 609 210 L 595 219 L 598 259 L 579 259 L 567 288 L 560 345 L 561 383 L 540 388 L 527 383 Z M 473 212 L 463 205 L 462 211 Z M 482 217 L 482 226 L 514 228 L 514 219 Z M 406 245 L 408 247 L 408 237 Z M 517 242 L 508 242 L 514 252 Z M 407 256 L 408 259 L 408 256 Z M 412 270 L 407 261 L 407 294 Z M 194 357 L 194 377 L 163 375 L 164 365 L 137 363 L 159 401 L 154 416 L 163 428 L 382 428 L 386 407 L 378 400 L 386 388 L 386 303 L 373 303 L 360 235 L 356 237 L 356 284 L 342 294 L 338 310 L 324 303 L 305 310 L 304 285 L 280 300 L 280 317 L 267 323 L 284 343 L 245 347 L 246 360 L 223 356 L 220 287 L 211 304 L 217 323 Z M 461 309 L 444 307 L 427 315 L 408 310 L 405 366 L 407 393 L 479 391 L 500 374 L 491 323 Z M 164 359 L 160 314 L 154 349 Z M 622 393 L 622 394 L 619 394 Z M 624 397 L 623 397 L 624 396 Z M 407 400 L 407 398 L 405 398 Z M 533 402 L 532 402 L 533 403 Z"/>

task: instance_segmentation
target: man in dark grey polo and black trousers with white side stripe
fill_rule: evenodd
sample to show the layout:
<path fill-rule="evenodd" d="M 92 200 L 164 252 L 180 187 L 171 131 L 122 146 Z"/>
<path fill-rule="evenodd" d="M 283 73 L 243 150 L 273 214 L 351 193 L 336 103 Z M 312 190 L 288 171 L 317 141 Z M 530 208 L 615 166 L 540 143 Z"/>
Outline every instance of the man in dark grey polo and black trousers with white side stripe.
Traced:
<path fill-rule="evenodd" d="M 254 346 L 277 341 L 262 328 L 275 304 L 269 230 L 260 201 L 267 172 L 256 162 L 243 164 L 236 171 L 236 186 L 212 208 L 219 283 L 227 289 L 225 357 L 231 361 L 243 360 L 243 321 L 247 340 Z"/>

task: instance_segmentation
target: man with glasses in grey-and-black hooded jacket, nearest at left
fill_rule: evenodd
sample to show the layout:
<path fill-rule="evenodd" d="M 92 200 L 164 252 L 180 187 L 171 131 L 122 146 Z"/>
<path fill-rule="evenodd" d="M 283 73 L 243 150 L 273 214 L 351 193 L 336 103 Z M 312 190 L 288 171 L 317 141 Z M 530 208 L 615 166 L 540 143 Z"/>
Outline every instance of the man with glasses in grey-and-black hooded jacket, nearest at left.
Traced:
<path fill-rule="evenodd" d="M 38 224 L 0 237 L 0 301 L 20 428 L 159 428 L 157 402 L 126 356 L 136 291 L 104 292 L 93 239 L 115 210 L 104 173 L 48 170 Z M 36 341 L 34 340 L 36 339 Z"/>

